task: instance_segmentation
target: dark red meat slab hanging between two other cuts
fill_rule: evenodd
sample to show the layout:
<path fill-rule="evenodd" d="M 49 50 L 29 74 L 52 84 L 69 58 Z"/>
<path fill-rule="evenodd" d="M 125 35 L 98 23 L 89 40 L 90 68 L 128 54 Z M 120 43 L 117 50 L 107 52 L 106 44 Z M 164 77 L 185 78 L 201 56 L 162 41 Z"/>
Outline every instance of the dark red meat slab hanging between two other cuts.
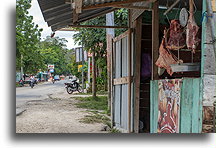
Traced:
<path fill-rule="evenodd" d="M 170 50 L 178 50 L 184 47 L 184 28 L 181 26 L 179 20 L 171 20 L 167 48 Z"/>

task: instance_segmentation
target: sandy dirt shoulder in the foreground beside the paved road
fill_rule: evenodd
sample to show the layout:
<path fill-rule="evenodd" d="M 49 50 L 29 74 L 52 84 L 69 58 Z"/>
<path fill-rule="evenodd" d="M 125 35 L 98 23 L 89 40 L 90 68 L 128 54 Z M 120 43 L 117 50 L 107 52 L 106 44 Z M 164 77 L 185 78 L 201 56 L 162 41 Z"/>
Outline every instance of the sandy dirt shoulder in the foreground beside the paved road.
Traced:
<path fill-rule="evenodd" d="M 16 133 L 107 133 L 102 123 L 86 124 L 80 120 L 89 115 L 77 108 L 77 100 L 64 94 L 26 104 L 26 111 L 16 117 Z"/>

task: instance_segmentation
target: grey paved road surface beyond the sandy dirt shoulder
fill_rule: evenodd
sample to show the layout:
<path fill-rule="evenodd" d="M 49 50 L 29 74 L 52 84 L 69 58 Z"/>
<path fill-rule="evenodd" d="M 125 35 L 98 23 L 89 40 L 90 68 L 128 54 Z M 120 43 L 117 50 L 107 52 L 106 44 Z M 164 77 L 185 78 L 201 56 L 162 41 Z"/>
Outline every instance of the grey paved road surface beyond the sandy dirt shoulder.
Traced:
<path fill-rule="evenodd" d="M 34 88 L 17 87 L 16 88 L 16 111 L 17 114 L 25 110 L 25 104 L 28 101 L 42 100 L 49 97 L 51 94 L 66 93 L 64 83 L 68 80 L 52 82 L 44 82 L 35 85 Z"/>

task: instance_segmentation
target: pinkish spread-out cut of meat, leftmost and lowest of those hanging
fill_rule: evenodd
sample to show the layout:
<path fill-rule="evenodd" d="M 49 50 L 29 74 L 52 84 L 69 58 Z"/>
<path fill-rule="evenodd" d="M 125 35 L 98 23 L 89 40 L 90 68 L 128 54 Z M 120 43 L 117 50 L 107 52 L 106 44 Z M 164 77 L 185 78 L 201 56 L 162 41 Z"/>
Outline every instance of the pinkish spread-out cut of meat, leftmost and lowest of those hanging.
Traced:
<path fill-rule="evenodd" d="M 166 49 L 166 38 L 167 38 L 167 31 L 166 29 L 164 30 L 164 37 L 161 41 L 161 45 L 159 48 L 159 58 L 156 61 L 156 65 L 160 68 L 165 68 L 167 70 L 167 73 L 169 75 L 173 74 L 173 71 L 170 67 L 171 64 L 177 64 L 177 61 L 173 58 L 171 53 L 168 52 Z"/>

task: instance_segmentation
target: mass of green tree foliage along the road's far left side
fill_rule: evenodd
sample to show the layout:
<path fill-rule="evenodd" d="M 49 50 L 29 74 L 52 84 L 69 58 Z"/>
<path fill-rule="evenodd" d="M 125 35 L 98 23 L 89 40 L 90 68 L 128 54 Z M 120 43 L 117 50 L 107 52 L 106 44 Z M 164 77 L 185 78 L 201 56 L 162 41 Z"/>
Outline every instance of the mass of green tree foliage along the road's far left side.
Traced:
<path fill-rule="evenodd" d="M 67 40 L 47 37 L 40 41 L 42 29 L 34 24 L 29 15 L 31 0 L 17 0 L 16 3 L 16 69 L 24 73 L 36 74 L 47 71 L 47 64 L 55 64 L 55 74 L 71 72 L 70 57 L 66 57 Z M 69 55 L 70 56 L 70 55 Z"/>

